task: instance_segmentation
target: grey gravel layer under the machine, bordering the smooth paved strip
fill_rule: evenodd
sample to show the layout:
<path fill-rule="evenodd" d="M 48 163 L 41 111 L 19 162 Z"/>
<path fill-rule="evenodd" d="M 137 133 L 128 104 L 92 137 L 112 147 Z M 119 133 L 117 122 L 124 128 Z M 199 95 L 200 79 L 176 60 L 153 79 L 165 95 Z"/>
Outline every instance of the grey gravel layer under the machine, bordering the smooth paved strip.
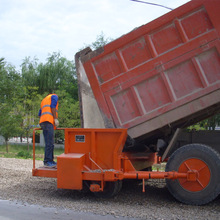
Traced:
<path fill-rule="evenodd" d="M 32 177 L 32 163 L 0 158 L 0 199 L 136 219 L 220 218 L 220 198 L 205 206 L 184 205 L 170 195 L 164 180 L 149 180 L 145 193 L 139 182 L 128 181 L 116 197 L 100 199 L 90 192 L 57 189 L 56 179 Z M 36 167 L 42 164 L 36 161 Z"/>

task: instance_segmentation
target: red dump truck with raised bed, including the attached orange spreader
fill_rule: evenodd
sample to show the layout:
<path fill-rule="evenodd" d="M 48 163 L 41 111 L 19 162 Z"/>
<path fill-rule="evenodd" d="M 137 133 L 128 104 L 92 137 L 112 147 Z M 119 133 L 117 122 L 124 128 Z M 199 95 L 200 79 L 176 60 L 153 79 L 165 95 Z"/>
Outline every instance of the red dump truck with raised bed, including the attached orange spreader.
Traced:
<path fill-rule="evenodd" d="M 220 111 L 220 1 L 192 0 L 92 51 L 75 55 L 82 128 L 66 128 L 57 168 L 33 176 L 98 197 L 122 182 L 166 179 L 180 202 L 220 194 L 220 147 L 177 146 L 181 129 Z M 34 134 L 35 131 L 34 130 Z M 33 134 L 33 142 L 35 135 Z M 33 144 L 33 155 L 35 145 Z M 152 171 L 166 163 L 165 171 Z"/>

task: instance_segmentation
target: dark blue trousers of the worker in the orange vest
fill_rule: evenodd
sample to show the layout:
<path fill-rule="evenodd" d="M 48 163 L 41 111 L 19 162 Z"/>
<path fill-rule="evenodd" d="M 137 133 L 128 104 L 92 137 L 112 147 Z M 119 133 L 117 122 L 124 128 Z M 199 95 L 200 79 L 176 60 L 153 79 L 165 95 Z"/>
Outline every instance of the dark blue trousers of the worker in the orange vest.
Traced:
<path fill-rule="evenodd" d="M 44 164 L 47 162 L 52 162 L 54 155 L 54 127 L 50 122 L 40 123 L 41 128 L 43 129 L 44 141 L 45 141 L 45 150 L 44 150 Z"/>

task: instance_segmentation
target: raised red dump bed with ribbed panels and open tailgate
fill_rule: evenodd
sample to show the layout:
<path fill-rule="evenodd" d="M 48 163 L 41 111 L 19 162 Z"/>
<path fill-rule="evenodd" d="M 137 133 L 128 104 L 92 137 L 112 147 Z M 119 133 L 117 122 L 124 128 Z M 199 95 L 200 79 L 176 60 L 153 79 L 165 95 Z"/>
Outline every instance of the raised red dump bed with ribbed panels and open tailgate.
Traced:
<path fill-rule="evenodd" d="M 219 112 L 219 11 L 220 1 L 192 0 L 77 53 L 82 126 L 127 128 L 151 144 Z"/>

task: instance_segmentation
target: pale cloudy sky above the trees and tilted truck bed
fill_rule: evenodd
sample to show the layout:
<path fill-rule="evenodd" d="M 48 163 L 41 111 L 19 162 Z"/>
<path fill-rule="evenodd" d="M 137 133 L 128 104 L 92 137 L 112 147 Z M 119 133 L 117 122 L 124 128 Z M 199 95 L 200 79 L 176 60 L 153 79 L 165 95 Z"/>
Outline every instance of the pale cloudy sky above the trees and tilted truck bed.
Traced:
<path fill-rule="evenodd" d="M 143 0 L 176 8 L 189 0 Z M 53 52 L 69 60 L 103 33 L 116 39 L 169 12 L 131 0 L 0 0 L 0 58 L 16 69 L 25 57 Z"/>

